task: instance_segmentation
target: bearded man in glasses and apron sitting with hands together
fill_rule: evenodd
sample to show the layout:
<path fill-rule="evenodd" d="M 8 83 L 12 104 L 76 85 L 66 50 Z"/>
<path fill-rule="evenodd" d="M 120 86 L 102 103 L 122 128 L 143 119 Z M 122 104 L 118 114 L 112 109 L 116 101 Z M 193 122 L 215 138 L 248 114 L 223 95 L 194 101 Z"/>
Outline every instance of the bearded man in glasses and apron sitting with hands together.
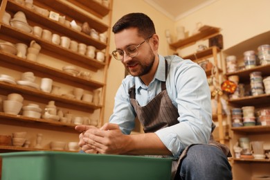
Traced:
<path fill-rule="evenodd" d="M 159 55 L 159 36 L 143 13 L 123 16 L 113 32 L 116 51 L 112 55 L 130 75 L 116 93 L 109 123 L 100 129 L 75 127 L 82 132 L 82 150 L 174 156 L 179 159 L 173 163 L 175 179 L 232 179 L 222 149 L 208 144 L 213 123 L 204 70 L 176 55 Z M 129 135 L 136 117 L 145 134 Z"/>

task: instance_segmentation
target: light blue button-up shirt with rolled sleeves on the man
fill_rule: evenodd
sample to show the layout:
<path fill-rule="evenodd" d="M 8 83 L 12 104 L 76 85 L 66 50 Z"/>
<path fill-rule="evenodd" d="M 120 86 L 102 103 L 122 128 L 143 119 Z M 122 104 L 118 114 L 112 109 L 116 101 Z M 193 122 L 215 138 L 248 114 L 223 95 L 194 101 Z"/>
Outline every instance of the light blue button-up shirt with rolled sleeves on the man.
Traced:
<path fill-rule="evenodd" d="M 167 80 L 165 59 L 168 61 Z M 139 77 L 127 75 L 116 93 L 114 113 L 109 122 L 118 124 L 124 134 L 130 134 L 135 125 L 136 113 L 129 101 L 129 89 L 135 84 L 136 100 L 139 105 L 145 106 L 161 92 L 162 81 L 166 81 L 168 95 L 178 109 L 180 123 L 155 133 L 177 158 L 188 145 L 208 143 L 210 138 L 210 89 L 204 69 L 195 62 L 183 60 L 176 55 L 159 55 L 159 66 L 148 86 Z"/>

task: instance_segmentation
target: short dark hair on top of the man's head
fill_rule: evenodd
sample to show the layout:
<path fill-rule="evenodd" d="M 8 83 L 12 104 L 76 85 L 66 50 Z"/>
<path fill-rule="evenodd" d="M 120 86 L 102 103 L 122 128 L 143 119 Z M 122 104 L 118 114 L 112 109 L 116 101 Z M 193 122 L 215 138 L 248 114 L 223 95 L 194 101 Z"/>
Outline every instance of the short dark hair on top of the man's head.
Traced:
<path fill-rule="evenodd" d="M 127 28 L 138 28 L 138 34 L 145 39 L 156 33 L 152 19 L 141 12 L 133 12 L 121 17 L 114 24 L 112 32 L 119 33 Z"/>

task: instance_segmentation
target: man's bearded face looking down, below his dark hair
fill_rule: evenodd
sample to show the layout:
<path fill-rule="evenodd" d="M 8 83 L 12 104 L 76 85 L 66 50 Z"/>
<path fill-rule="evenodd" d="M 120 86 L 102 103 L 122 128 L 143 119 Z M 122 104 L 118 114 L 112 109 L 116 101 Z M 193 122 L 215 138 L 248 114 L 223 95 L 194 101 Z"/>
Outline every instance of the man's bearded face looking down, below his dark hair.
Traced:
<path fill-rule="evenodd" d="M 138 44 L 141 44 L 145 40 L 143 37 L 138 36 L 138 30 L 136 28 L 128 28 L 120 33 L 116 33 L 114 39 L 116 49 L 122 51 L 126 51 L 126 48 L 131 45 L 138 46 Z M 125 52 L 121 62 L 131 75 L 142 76 L 150 72 L 154 64 L 154 58 L 155 55 L 151 45 L 146 41 L 138 47 L 138 55 L 129 57 Z"/>

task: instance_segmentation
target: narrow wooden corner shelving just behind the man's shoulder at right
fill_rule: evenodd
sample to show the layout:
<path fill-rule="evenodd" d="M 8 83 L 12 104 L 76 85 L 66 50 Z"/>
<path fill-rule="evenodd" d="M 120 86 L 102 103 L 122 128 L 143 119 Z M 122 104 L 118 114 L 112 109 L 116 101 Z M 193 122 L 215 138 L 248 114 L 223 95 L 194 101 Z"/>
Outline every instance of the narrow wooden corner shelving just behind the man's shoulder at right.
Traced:
<path fill-rule="evenodd" d="M 181 48 L 187 48 L 188 46 L 191 46 L 192 44 L 195 44 L 196 42 L 200 40 L 209 39 L 210 37 L 214 37 L 215 35 L 219 35 L 220 28 L 215 28 L 212 26 L 203 26 L 199 29 L 199 33 L 192 35 L 190 37 L 187 37 L 186 39 L 180 39 L 177 42 L 174 42 L 170 44 L 170 48 L 172 48 L 174 51 L 181 49 Z M 193 62 L 201 62 L 204 61 L 206 58 L 213 57 L 213 65 L 217 68 L 217 71 L 215 72 L 215 79 L 217 80 L 217 84 L 219 84 L 219 75 L 222 74 L 222 68 L 218 66 L 218 54 L 221 57 L 220 49 L 217 46 L 212 46 L 207 48 L 204 51 L 199 51 L 196 53 L 192 53 L 190 55 L 186 55 L 182 57 L 184 60 L 192 60 Z M 213 69 L 206 70 L 206 75 L 210 77 L 212 75 Z M 217 95 L 218 96 L 218 95 Z M 223 125 L 223 115 L 222 115 L 222 105 L 217 98 L 217 115 L 213 116 L 213 120 L 217 121 L 219 127 L 216 128 L 215 131 L 218 129 L 218 138 L 217 136 L 214 136 L 216 141 L 219 141 L 220 143 L 224 144 L 225 141 L 228 140 L 228 136 L 226 136 L 226 127 Z M 222 128 L 220 128 L 222 127 Z"/>

